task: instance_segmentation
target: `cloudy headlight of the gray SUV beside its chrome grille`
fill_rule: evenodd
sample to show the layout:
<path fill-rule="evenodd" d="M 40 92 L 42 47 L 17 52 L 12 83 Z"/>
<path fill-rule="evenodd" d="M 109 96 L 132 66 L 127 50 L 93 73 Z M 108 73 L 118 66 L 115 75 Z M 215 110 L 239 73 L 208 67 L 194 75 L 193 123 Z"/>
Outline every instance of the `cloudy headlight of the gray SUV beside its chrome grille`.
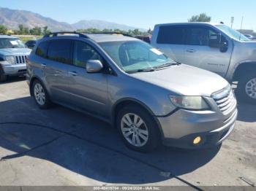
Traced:
<path fill-rule="evenodd" d="M 170 95 L 170 101 L 182 109 L 209 109 L 208 104 L 201 96 L 173 96 Z"/>

